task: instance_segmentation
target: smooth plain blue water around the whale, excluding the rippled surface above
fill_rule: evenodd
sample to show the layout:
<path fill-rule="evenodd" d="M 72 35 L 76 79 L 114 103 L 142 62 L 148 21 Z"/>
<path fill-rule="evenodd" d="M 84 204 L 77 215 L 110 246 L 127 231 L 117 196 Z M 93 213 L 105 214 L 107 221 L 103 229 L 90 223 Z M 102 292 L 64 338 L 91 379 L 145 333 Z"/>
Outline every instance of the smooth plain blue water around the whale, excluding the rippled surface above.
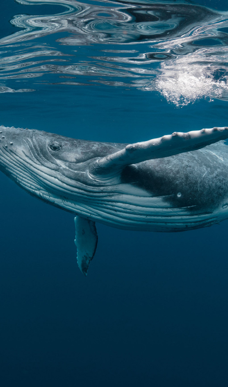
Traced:
<path fill-rule="evenodd" d="M 9 29 L 4 15 L 18 8 L 1 15 Z M 134 88 L 39 85 L 0 94 L 0 123 L 135 142 L 228 125 L 228 105 L 202 100 L 180 109 Z M 0 181 L 2 387 L 227 387 L 228 221 L 183 233 L 97 224 L 85 278 L 73 215 L 3 174 Z"/>

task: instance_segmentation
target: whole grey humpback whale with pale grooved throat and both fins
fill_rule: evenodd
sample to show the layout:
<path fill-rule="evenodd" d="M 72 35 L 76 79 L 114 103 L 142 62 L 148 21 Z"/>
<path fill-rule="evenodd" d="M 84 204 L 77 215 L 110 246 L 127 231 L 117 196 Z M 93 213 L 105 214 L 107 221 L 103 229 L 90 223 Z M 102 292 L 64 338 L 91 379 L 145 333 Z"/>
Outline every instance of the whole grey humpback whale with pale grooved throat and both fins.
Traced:
<path fill-rule="evenodd" d="M 228 218 L 228 127 L 115 144 L 0 126 L 0 170 L 29 194 L 75 214 L 78 266 L 87 275 L 95 221 L 185 231 Z"/>

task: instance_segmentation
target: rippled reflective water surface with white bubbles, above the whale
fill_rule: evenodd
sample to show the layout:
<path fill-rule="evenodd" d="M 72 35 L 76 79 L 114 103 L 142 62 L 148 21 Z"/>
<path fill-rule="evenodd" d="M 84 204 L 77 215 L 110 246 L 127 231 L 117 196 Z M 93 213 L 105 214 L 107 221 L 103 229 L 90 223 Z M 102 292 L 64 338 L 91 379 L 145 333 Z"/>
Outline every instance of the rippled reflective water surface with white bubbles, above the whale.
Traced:
<path fill-rule="evenodd" d="M 32 15 L 38 0 L 16 1 L 31 15 L 12 15 L 19 30 L 0 39 L 1 92 L 106 84 L 159 91 L 177 106 L 228 100 L 228 12 L 184 2 L 43 0 L 63 11 Z"/>

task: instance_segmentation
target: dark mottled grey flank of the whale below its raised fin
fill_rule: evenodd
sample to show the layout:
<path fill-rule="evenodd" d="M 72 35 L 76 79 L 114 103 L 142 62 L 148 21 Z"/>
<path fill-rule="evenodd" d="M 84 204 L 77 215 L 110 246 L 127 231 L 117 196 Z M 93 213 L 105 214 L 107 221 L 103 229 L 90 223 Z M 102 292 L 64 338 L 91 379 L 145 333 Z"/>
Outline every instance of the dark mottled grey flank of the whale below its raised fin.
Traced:
<path fill-rule="evenodd" d="M 130 165 L 123 171 L 128 183 L 145 188 L 152 196 L 163 197 L 170 209 L 185 209 L 186 215 L 207 214 L 190 228 L 210 226 L 228 217 L 228 147 L 225 141 L 197 151 Z M 185 224 L 185 229 L 188 228 Z M 168 231 L 168 230 L 166 230 Z M 182 231 L 172 228 L 170 231 Z"/>

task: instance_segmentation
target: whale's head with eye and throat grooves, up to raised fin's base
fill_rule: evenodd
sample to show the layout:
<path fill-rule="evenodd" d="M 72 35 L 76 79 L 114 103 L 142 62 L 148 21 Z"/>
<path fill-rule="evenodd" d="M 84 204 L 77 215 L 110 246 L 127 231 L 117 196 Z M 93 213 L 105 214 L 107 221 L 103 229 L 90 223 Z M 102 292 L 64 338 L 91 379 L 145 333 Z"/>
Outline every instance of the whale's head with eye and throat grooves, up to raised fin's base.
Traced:
<path fill-rule="evenodd" d="M 109 143 L 0 126 L 0 170 L 29 194 L 56 205 L 60 197 L 92 185 L 91 160 L 113 149 Z"/>

